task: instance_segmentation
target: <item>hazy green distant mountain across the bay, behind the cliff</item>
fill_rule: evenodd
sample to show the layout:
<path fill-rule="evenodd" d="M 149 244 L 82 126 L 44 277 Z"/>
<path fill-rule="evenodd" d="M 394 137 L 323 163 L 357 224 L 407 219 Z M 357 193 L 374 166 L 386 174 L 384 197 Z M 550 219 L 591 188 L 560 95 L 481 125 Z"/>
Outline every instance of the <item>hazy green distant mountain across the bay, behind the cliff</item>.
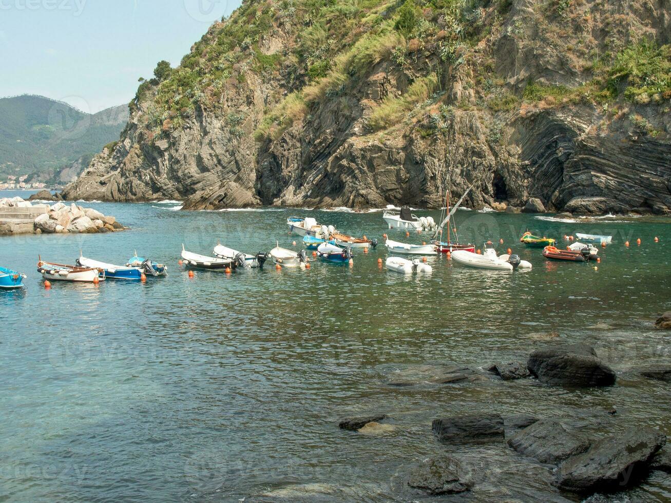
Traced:
<path fill-rule="evenodd" d="M 6 174 L 33 174 L 33 180 L 69 176 L 103 146 L 119 139 L 128 121 L 127 105 L 95 114 L 42 96 L 0 99 L 0 180 Z M 75 173 L 74 176 L 79 174 Z"/>

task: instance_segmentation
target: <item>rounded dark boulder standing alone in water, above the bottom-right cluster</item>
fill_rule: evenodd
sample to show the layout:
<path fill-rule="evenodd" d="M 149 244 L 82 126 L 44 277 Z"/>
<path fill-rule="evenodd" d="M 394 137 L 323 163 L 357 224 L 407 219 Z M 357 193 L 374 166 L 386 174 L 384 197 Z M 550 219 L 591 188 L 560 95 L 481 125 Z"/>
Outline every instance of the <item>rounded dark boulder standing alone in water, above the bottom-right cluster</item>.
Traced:
<path fill-rule="evenodd" d="M 594 348 L 582 345 L 546 347 L 529 356 L 531 375 L 552 386 L 612 386 L 615 372 L 597 357 Z"/>

